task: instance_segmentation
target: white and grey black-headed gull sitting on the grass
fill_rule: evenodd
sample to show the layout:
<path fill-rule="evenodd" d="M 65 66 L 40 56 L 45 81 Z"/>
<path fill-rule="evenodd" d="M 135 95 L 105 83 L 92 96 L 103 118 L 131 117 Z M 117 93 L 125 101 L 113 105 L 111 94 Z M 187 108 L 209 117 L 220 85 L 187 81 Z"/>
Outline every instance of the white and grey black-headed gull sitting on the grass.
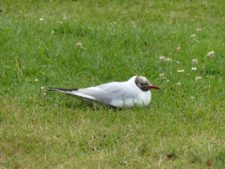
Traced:
<path fill-rule="evenodd" d="M 149 83 L 148 79 L 143 76 L 133 76 L 125 82 L 110 82 L 80 89 L 50 88 L 49 90 L 121 108 L 149 105 L 151 89 L 159 89 L 159 87 Z"/>

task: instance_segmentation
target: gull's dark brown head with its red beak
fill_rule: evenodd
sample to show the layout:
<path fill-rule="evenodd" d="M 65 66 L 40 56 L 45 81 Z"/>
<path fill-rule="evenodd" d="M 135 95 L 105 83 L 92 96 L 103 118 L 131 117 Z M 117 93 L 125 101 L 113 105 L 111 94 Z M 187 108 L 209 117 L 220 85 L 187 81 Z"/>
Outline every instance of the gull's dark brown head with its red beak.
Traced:
<path fill-rule="evenodd" d="M 148 91 L 150 89 L 159 89 L 159 87 L 151 84 L 147 78 L 145 78 L 144 76 L 137 76 L 135 78 L 135 84 L 137 85 L 137 87 L 139 87 L 139 89 L 141 89 L 142 91 Z"/>

